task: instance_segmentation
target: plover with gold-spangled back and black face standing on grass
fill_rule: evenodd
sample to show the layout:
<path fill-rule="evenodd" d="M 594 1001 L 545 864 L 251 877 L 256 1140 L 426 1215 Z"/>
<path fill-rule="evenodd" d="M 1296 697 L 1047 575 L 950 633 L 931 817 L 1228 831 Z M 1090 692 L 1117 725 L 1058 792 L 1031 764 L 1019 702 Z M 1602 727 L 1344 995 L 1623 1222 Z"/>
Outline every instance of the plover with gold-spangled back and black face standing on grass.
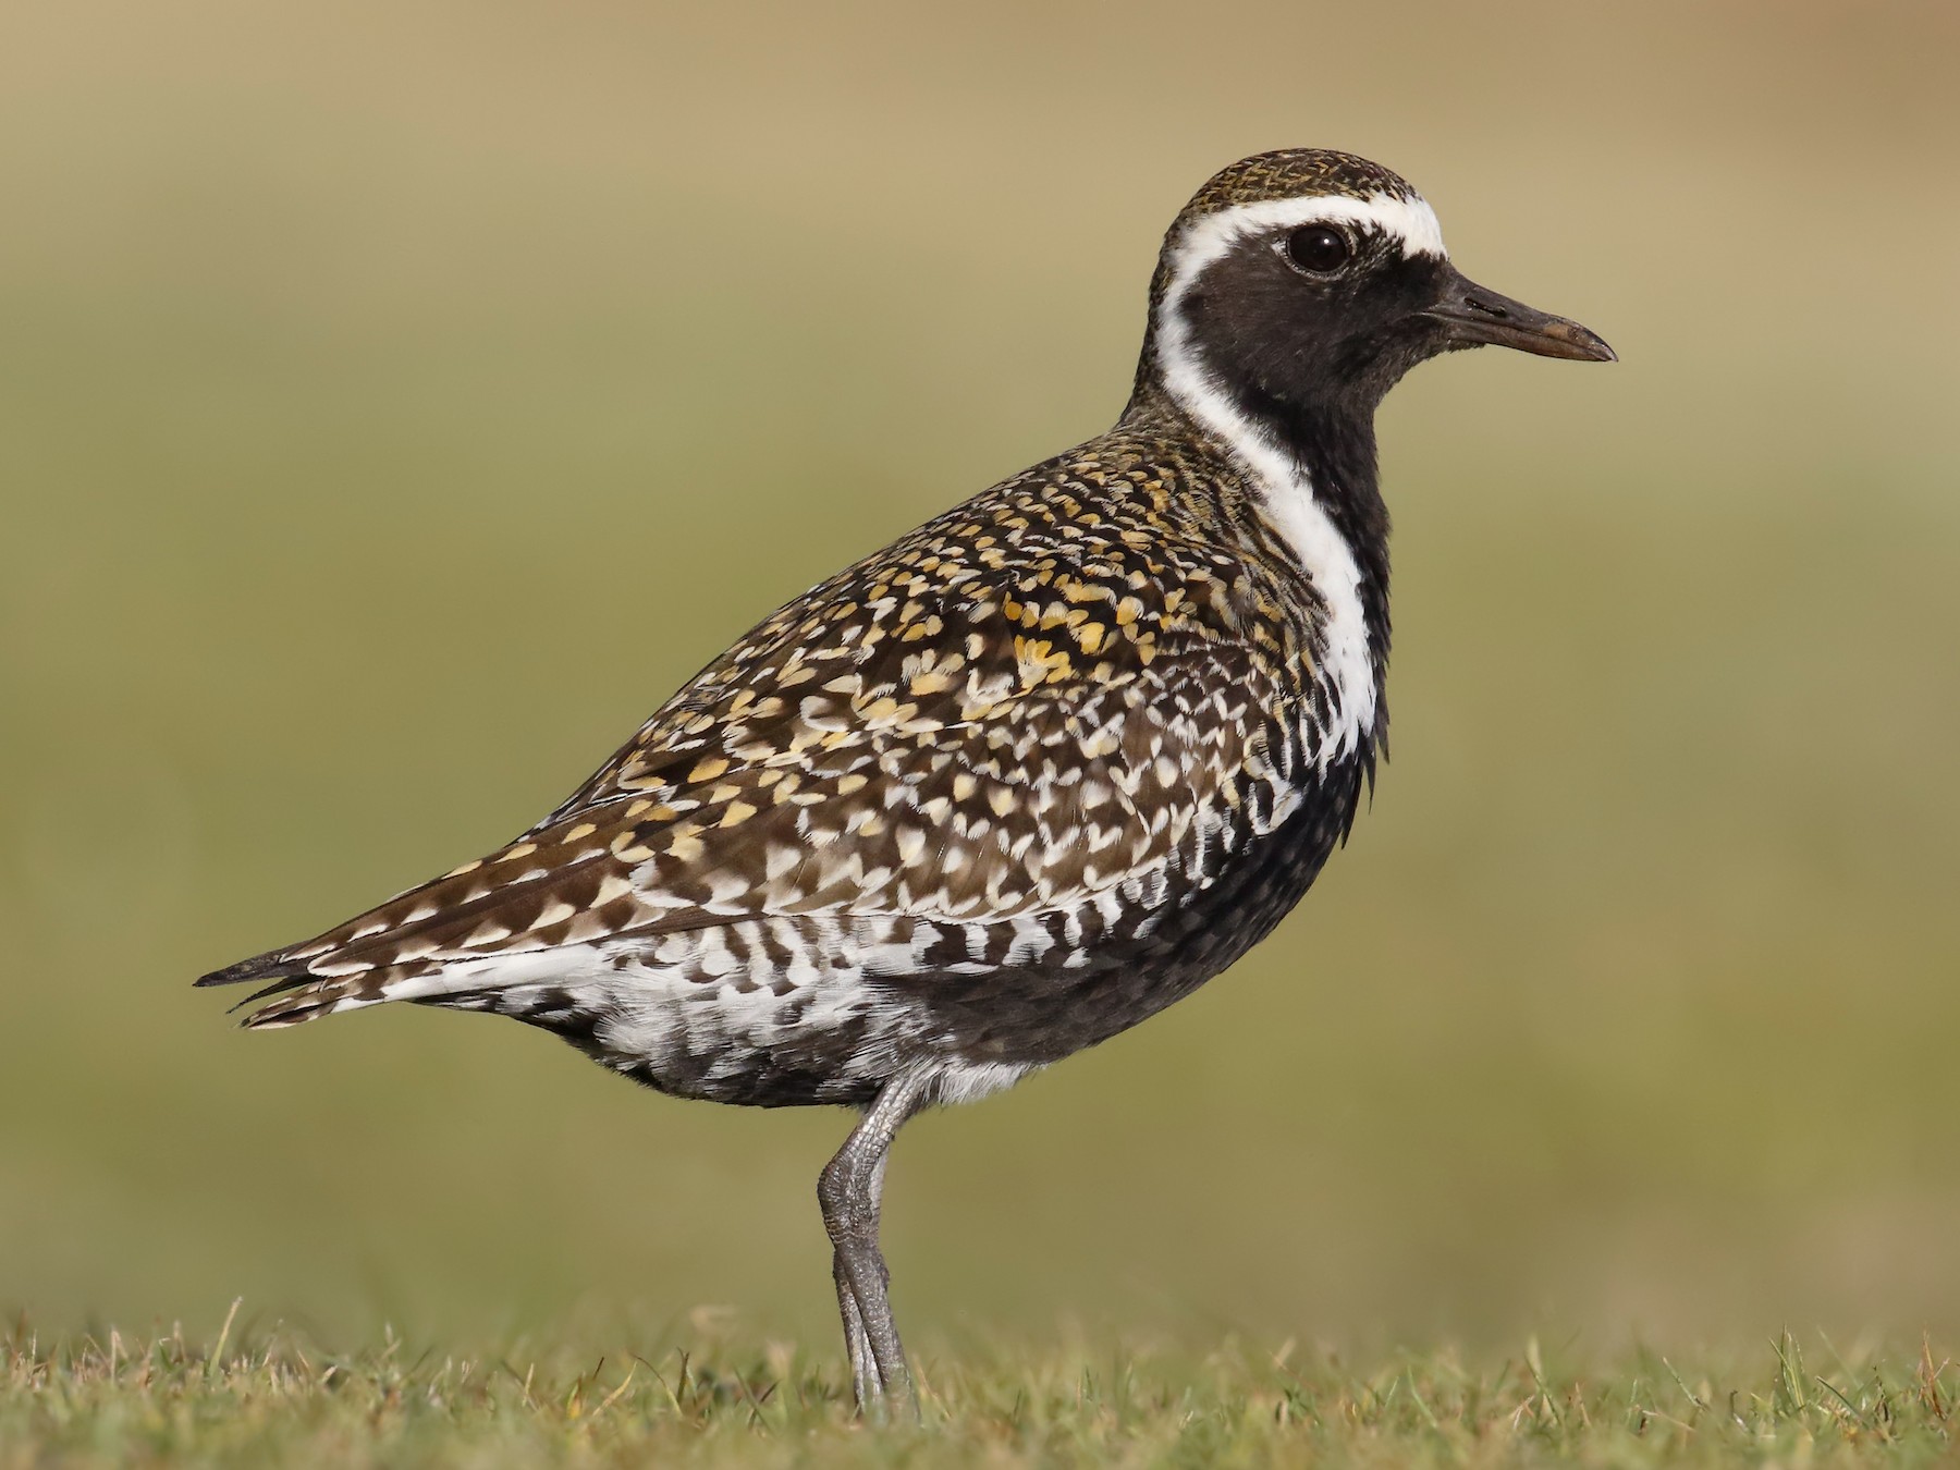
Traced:
<path fill-rule="evenodd" d="M 1388 169 L 1235 163 L 1170 225 L 1113 429 L 770 613 L 508 847 L 198 984 L 261 982 L 259 1029 L 496 1011 L 678 1098 L 862 1109 L 817 1198 L 857 1399 L 909 1397 L 894 1133 L 1305 894 L 1388 725 L 1374 410 L 1484 343 L 1613 359 L 1458 274 Z"/>

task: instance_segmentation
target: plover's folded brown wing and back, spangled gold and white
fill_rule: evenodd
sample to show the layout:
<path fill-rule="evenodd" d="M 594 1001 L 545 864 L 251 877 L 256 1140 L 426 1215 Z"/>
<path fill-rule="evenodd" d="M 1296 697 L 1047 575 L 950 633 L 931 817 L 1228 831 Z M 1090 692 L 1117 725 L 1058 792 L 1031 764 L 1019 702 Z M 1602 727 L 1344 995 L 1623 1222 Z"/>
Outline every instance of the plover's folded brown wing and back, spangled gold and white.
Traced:
<path fill-rule="evenodd" d="M 1117 527 L 994 547 L 960 512 L 927 523 L 760 623 L 515 843 L 206 982 L 272 994 L 764 913 L 1009 919 L 1274 815 L 1276 766 L 1311 759 L 1272 733 L 1303 651 L 1239 563 Z"/>

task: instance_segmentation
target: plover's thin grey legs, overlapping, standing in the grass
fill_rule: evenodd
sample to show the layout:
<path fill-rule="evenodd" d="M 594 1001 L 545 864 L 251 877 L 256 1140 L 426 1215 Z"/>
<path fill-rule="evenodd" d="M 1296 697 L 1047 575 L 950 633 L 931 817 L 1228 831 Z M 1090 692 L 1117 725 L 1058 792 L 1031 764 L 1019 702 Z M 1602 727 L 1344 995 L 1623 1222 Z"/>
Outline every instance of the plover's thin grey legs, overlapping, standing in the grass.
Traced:
<path fill-rule="evenodd" d="M 837 1156 L 817 1178 L 823 1229 L 831 1235 L 831 1274 L 837 1278 L 837 1309 L 845 1319 L 845 1347 L 851 1350 L 851 1378 L 858 1409 L 880 1403 L 886 1394 L 911 1403 L 906 1350 L 892 1321 L 890 1272 L 878 1252 L 878 1205 L 884 1196 L 884 1156 L 900 1125 L 919 1111 L 931 1094 L 929 1070 L 902 1072 L 864 1111 Z"/>

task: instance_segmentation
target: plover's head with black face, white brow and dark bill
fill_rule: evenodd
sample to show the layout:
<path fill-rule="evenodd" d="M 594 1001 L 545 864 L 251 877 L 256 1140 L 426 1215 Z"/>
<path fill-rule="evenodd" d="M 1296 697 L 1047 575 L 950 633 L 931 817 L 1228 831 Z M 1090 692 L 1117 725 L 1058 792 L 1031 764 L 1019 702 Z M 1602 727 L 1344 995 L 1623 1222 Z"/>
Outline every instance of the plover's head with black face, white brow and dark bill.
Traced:
<path fill-rule="evenodd" d="M 1437 216 L 1388 169 L 1327 149 L 1213 174 L 1164 237 L 1143 372 L 1254 419 L 1372 416 L 1403 372 L 1462 347 L 1613 361 L 1578 321 L 1462 276 Z"/>

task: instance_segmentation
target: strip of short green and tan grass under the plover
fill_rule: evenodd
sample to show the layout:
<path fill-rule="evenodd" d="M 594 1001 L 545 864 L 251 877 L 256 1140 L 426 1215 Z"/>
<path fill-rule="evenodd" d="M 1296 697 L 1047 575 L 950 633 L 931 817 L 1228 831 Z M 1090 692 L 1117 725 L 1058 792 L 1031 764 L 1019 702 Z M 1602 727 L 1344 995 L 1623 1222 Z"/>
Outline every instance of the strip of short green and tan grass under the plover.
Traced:
<path fill-rule="evenodd" d="M 272 1329 L 41 1339 L 0 1366 L 0 1466 L 276 1464 L 1950 1464 L 1960 1372 L 1931 1343 L 1791 1335 L 1729 1360 L 1560 1364 L 1452 1348 L 1352 1360 L 1227 1341 L 921 1356 L 921 1425 L 872 1427 L 829 1354 L 664 1345 L 578 1360 L 388 1337 L 347 1356 Z"/>

